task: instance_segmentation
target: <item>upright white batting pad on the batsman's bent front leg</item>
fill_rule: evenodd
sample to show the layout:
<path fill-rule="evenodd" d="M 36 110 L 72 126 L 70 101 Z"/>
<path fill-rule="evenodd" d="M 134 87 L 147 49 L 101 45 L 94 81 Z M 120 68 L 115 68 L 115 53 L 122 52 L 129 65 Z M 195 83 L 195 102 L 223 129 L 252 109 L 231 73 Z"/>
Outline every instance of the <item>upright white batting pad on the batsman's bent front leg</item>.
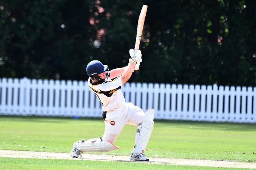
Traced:
<path fill-rule="evenodd" d="M 137 140 L 137 143 L 135 144 L 135 148 L 133 150 L 134 155 L 139 155 L 143 153 L 145 150 L 148 140 L 150 138 L 151 132 L 153 130 L 153 125 L 154 125 L 154 109 L 149 109 L 145 113 L 145 118 L 141 124 L 141 131 L 139 132 L 139 137 Z"/>

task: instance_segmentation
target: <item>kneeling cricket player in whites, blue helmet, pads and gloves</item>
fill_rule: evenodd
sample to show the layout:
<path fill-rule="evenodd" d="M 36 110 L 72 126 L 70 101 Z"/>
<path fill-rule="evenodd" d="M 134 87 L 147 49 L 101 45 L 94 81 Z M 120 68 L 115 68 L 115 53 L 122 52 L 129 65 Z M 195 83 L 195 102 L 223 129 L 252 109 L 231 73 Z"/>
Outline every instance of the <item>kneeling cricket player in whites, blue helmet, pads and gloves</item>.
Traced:
<path fill-rule="evenodd" d="M 147 112 L 132 103 L 125 102 L 121 92 L 121 86 L 126 83 L 134 69 L 139 68 L 142 61 L 141 51 L 130 49 L 131 58 L 128 66 L 108 70 L 107 65 L 103 65 L 98 60 L 93 60 L 87 64 L 86 72 L 89 76 L 89 88 L 95 93 L 102 104 L 103 120 L 105 130 L 103 137 L 97 137 L 85 141 L 84 139 L 75 142 L 70 152 L 71 157 L 81 157 L 82 152 L 109 152 L 119 149 L 115 146 L 115 140 L 119 136 L 125 124 L 137 126 L 135 133 L 135 145 L 131 152 L 130 159 L 134 161 L 149 161 L 144 154 L 148 140 L 154 125 L 154 109 Z"/>

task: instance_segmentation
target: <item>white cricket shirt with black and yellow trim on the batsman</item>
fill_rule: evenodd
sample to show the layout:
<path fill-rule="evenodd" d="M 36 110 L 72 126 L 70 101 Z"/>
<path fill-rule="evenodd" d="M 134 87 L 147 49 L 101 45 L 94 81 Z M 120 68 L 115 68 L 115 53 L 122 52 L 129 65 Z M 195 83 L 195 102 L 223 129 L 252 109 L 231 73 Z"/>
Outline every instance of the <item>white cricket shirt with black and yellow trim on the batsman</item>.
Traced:
<path fill-rule="evenodd" d="M 104 82 L 96 83 L 92 83 L 91 78 L 89 77 L 88 85 L 101 102 L 103 112 L 108 112 L 124 106 L 125 99 L 120 90 L 122 86 L 120 77 L 114 80 L 107 78 Z"/>

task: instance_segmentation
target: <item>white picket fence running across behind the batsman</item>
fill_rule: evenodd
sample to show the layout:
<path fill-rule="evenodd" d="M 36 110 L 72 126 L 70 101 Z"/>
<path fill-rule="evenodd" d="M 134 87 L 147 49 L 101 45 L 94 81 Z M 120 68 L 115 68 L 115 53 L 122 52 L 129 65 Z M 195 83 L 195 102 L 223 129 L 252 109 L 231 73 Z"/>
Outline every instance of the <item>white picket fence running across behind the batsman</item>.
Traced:
<path fill-rule="evenodd" d="M 155 119 L 256 123 L 256 87 L 126 83 L 126 102 Z M 87 81 L 0 79 L 0 115 L 102 117 Z"/>

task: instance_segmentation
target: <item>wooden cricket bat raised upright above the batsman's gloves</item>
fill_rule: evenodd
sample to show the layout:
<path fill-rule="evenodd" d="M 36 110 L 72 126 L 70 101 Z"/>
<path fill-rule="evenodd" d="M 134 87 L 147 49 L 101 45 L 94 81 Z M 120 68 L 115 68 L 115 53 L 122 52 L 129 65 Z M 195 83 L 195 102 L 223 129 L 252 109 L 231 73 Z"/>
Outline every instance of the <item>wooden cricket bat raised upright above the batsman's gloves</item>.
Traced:
<path fill-rule="evenodd" d="M 144 26 L 144 21 L 145 21 L 147 9 L 148 9 L 148 6 L 147 5 L 143 5 L 143 7 L 141 9 L 141 13 L 139 14 L 139 20 L 138 20 L 138 26 L 137 26 L 137 34 L 136 34 L 134 51 L 139 49 L 139 44 L 141 42 L 141 35 L 142 35 L 142 31 L 143 31 L 143 26 Z M 135 70 L 138 70 L 138 69 L 139 68 L 135 68 Z"/>

